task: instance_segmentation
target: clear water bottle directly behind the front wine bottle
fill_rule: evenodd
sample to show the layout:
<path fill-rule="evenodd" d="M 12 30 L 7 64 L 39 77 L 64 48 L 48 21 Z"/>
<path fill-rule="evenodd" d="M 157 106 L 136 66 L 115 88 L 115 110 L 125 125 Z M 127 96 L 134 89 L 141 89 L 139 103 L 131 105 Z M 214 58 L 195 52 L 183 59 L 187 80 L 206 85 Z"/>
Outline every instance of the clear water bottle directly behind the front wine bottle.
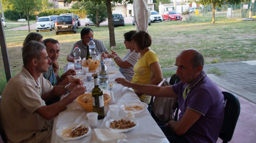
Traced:
<path fill-rule="evenodd" d="M 109 89 L 109 70 L 107 66 L 104 64 L 103 57 L 101 57 L 100 66 L 97 69 L 97 74 L 99 77 L 99 87 L 101 89 L 110 90 Z"/>

